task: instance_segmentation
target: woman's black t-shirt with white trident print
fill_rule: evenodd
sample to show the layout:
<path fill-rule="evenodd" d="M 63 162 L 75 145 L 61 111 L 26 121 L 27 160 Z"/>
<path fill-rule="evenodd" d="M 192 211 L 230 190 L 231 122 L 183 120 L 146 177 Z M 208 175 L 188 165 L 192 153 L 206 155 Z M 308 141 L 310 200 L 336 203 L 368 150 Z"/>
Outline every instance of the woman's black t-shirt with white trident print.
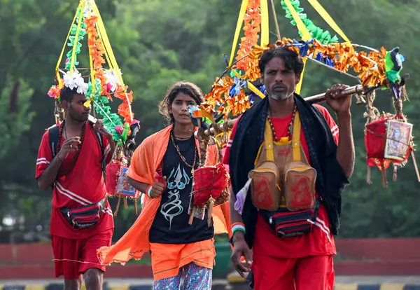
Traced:
<path fill-rule="evenodd" d="M 194 136 L 187 140 L 174 139 L 182 156 L 189 165 L 198 167 L 199 156 L 195 149 Z M 190 225 L 190 196 L 193 188 L 191 167 L 183 162 L 169 138 L 167 151 L 163 158 L 163 176 L 167 177 L 167 189 L 162 194 L 158 212 L 153 221 L 149 240 L 162 244 L 188 244 L 209 240 L 214 236 L 214 227 L 207 224 L 207 211 L 204 220 L 194 218 Z"/>

